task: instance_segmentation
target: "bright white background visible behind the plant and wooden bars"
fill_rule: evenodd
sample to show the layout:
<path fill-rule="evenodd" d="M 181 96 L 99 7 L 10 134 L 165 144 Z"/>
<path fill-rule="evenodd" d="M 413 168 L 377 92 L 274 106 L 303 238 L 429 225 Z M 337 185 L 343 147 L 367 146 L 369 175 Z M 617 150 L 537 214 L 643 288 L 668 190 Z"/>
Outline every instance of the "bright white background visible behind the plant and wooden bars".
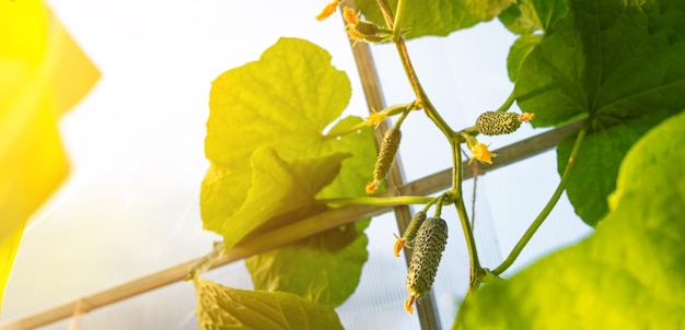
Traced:
<path fill-rule="evenodd" d="M 333 64 L 347 71 L 352 82 L 348 111 L 367 113 L 339 14 L 325 22 L 313 19 L 326 1 L 48 3 L 103 75 L 60 121 L 72 172 L 28 226 L 5 293 L 3 320 L 76 300 L 210 250 L 211 241 L 220 237 L 204 232 L 199 219 L 199 188 L 208 167 L 204 138 L 210 83 L 225 70 L 257 60 L 280 36 L 309 39 L 328 50 Z M 479 113 L 507 98 L 511 83 L 506 58 L 513 39 L 494 21 L 449 39 L 409 42 L 419 78 L 453 128 L 471 126 Z M 374 57 L 387 104 L 413 101 L 394 47 L 375 48 Z M 407 179 L 450 166 L 449 146 L 428 119 L 413 114 L 403 130 Z M 506 139 L 484 142 L 496 149 L 538 132 L 525 127 Z M 487 266 L 497 266 L 509 252 L 558 179 L 554 152 L 480 178 L 476 235 Z M 566 198 L 561 202 L 522 259 L 589 232 Z M 368 233 L 372 241 L 382 236 L 379 239 L 392 246 L 394 232 L 386 219 L 374 220 Z M 454 222 L 453 248 L 448 247 L 445 258 L 467 264 L 458 232 Z M 453 311 L 450 304 L 466 285 L 449 280 L 463 270 L 445 268 L 441 266 L 436 285 L 451 293 L 438 296 L 446 300 L 442 314 Z M 397 286 L 404 295 L 404 281 Z"/>

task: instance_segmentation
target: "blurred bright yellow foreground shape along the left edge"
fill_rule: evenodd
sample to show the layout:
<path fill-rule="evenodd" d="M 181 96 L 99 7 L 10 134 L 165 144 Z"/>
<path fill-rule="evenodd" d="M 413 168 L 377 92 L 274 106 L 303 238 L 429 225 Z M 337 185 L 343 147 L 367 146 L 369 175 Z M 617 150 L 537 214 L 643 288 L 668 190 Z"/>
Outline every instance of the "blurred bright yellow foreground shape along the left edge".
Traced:
<path fill-rule="evenodd" d="M 42 0 L 0 0 L 0 310 L 26 221 L 68 172 L 57 119 L 98 78 Z"/>

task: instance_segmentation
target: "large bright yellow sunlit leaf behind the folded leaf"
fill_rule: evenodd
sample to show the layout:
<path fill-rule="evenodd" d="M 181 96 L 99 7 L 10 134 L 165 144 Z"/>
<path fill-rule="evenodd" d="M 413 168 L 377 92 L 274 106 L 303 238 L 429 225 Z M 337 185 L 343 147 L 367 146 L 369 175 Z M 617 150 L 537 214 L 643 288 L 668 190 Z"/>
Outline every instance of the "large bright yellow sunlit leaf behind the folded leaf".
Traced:
<path fill-rule="evenodd" d="M 258 61 L 217 78 L 205 141 L 211 161 L 200 197 L 205 227 L 221 233 L 245 201 L 256 149 L 270 146 L 287 161 L 329 153 L 334 140 L 323 130 L 350 95 L 349 80 L 330 66 L 330 55 L 294 38 L 279 39 Z"/>

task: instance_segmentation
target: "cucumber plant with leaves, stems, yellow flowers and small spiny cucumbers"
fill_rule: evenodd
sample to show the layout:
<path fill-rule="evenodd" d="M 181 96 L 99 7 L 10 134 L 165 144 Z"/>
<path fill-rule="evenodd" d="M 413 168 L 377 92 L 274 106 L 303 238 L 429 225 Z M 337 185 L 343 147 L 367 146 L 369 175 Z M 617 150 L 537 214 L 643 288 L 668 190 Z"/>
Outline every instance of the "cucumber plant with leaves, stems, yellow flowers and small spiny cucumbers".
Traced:
<path fill-rule="evenodd" d="M 685 325 L 685 283 L 675 275 L 685 271 L 680 262 L 685 236 L 677 234 L 685 233 L 680 216 L 685 201 L 677 193 L 685 187 L 680 181 L 667 185 L 663 177 L 682 177 L 683 170 L 671 165 L 669 170 L 653 172 L 653 179 L 640 176 L 659 168 L 657 164 L 683 161 L 685 119 L 676 115 L 685 108 L 685 2 L 357 0 L 355 4 L 358 9 L 333 0 L 315 17 L 328 24 L 327 17 L 339 10 L 344 31 L 356 45 L 394 44 L 413 102 L 373 110 L 367 119 L 339 118 L 351 93 L 349 80 L 330 66 L 326 51 L 294 38 L 282 38 L 258 61 L 222 73 L 210 93 L 206 154 L 211 166 L 200 200 L 205 227 L 223 235 L 227 250 L 275 239 L 270 233 L 285 239 L 281 236 L 290 235 L 290 228 L 342 205 L 422 204 L 394 246 L 395 256 L 405 247 L 411 254 L 409 297 L 404 304 L 409 313 L 415 300 L 429 293 L 448 226 L 456 226 L 468 251 L 469 280 L 463 283 L 467 294 L 458 306 L 455 329 Z M 436 107 L 425 91 L 407 44 L 495 17 L 518 36 L 506 60 L 511 95 L 498 109 L 483 109 L 473 126 L 455 129 L 441 116 L 448 109 Z M 522 114 L 512 110 L 514 103 Z M 379 195 L 409 114 L 427 116 L 450 145 L 445 152 L 452 155 L 451 187 L 436 198 Z M 392 117 L 397 120 L 376 156 L 372 130 Z M 488 135 L 511 134 L 524 121 L 556 127 L 577 119 L 584 122 L 557 148 L 560 181 L 547 204 L 499 264 L 481 264 L 462 193 L 462 153 L 469 151 L 476 165 L 492 164 L 498 158 L 489 150 Z M 657 126 L 661 133 L 649 133 L 645 138 L 649 142 L 641 142 Z M 641 154 L 649 156 L 640 158 Z M 504 280 L 564 192 L 596 232 Z M 456 219 L 441 217 L 445 207 L 455 209 Z M 434 214 L 426 219 L 431 208 Z M 248 258 L 258 295 L 208 285 L 194 274 L 200 325 L 213 328 L 231 320 L 239 329 L 303 328 L 315 320 L 340 328 L 334 307 L 359 282 L 367 261 L 368 224 L 365 219 L 309 238 L 285 239 L 288 245 Z M 557 304 L 549 304 L 549 293 Z M 241 305 L 241 299 L 256 296 L 280 307 L 255 311 Z M 280 299 L 293 302 L 298 310 L 283 311 Z M 587 307 L 582 302 L 593 304 Z M 245 321 L 246 314 L 254 316 L 253 323 Z M 275 325 L 275 319 L 285 321 Z"/>

